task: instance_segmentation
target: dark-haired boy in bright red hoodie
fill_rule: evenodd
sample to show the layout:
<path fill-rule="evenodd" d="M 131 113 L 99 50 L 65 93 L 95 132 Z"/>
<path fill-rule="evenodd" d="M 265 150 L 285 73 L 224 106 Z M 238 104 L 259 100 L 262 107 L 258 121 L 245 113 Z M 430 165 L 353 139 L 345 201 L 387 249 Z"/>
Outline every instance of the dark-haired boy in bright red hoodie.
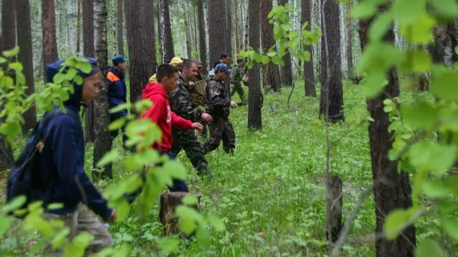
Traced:
<path fill-rule="evenodd" d="M 168 155 L 170 159 L 175 159 L 170 151 L 173 140 L 172 126 L 182 130 L 197 129 L 201 131 L 203 128 L 202 124 L 181 118 L 170 110 L 168 92 L 175 89 L 179 75 L 180 72 L 175 66 L 162 64 L 156 73 L 158 82 L 149 82 L 142 92 L 143 99 L 149 99 L 153 102 L 153 107 L 147 110 L 142 118 L 150 119 L 162 130 L 162 141 L 155 142 L 153 148 L 161 154 Z M 173 186 L 169 187 L 169 190 L 170 192 L 189 192 L 186 182 L 182 179 L 174 179 Z"/>

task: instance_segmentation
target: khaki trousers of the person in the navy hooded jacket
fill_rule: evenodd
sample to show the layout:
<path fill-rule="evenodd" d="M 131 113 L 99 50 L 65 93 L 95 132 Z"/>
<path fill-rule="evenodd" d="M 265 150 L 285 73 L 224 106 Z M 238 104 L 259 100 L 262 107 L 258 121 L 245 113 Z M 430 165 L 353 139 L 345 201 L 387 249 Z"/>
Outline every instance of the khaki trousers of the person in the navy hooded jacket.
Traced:
<path fill-rule="evenodd" d="M 83 204 L 80 204 L 78 209 L 72 213 L 65 215 L 47 213 L 45 218 L 63 221 L 64 225 L 70 229 L 70 233 L 67 236 L 70 241 L 81 232 L 92 234 L 94 240 L 89 243 L 84 256 L 96 254 L 103 248 L 111 247 L 114 244 L 110 232 L 103 226 L 98 217 Z M 51 257 L 63 256 L 62 249 L 52 250 L 50 244 L 45 247 L 44 253 L 50 254 Z"/>

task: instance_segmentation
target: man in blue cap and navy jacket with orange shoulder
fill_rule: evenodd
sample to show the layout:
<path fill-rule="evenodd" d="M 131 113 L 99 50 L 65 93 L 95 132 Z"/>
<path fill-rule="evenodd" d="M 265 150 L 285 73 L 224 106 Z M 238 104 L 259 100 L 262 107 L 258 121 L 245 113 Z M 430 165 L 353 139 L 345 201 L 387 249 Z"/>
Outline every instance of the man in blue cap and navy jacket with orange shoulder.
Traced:
<path fill-rule="evenodd" d="M 126 61 L 129 60 L 124 56 L 118 54 L 113 57 L 112 62 L 113 66 L 108 68 L 107 81 L 108 81 L 108 102 L 110 104 L 110 109 L 114 108 L 122 103 L 127 102 L 127 86 L 124 73 L 126 71 Z M 122 110 L 119 112 L 110 114 L 110 122 L 115 121 L 121 117 L 127 116 L 127 110 Z M 127 122 L 125 123 L 127 124 Z M 123 147 L 127 141 L 127 136 L 124 133 L 126 125 L 121 128 L 122 131 L 122 142 Z M 119 133 L 119 129 L 111 131 L 111 139 L 114 140 Z"/>

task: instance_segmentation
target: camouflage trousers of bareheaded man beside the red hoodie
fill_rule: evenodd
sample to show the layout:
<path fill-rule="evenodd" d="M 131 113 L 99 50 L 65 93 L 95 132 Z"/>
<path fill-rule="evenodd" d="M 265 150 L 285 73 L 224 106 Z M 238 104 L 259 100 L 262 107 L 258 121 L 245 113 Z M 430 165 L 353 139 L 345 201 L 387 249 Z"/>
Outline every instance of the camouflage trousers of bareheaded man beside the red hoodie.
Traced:
<path fill-rule="evenodd" d="M 178 156 L 183 149 L 186 157 L 191 161 L 197 174 L 210 175 L 212 172 L 208 168 L 208 162 L 202 151 L 202 147 L 194 134 L 194 130 L 177 130 L 172 129 L 173 143 L 170 151 L 174 156 Z"/>

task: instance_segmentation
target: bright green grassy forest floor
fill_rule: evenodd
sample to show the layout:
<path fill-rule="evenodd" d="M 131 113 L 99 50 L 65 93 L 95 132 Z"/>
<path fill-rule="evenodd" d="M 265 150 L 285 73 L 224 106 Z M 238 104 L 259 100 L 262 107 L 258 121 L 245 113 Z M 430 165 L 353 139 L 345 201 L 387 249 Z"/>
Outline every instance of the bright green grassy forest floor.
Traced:
<path fill-rule="evenodd" d="M 212 181 L 201 181 L 180 153 L 178 159 L 187 167 L 190 191 L 202 195 L 201 212 L 216 214 L 227 227 L 225 232 L 212 232 L 210 246 L 192 243 L 186 247 L 183 243 L 180 256 L 326 256 L 326 130 L 317 120 L 319 97 L 304 98 L 303 82 L 298 81 L 288 107 L 290 90 L 283 88 L 279 94 L 264 95 L 259 132 L 247 130 L 247 106 L 231 111 L 236 151 L 227 155 L 221 146 L 207 155 Z M 245 91 L 247 95 L 247 88 Z M 343 180 L 344 221 L 360 193 L 372 185 L 367 123 L 357 125 L 367 117 L 361 91 L 358 85 L 344 84 L 346 122 L 330 128 L 331 174 Z M 409 99 L 418 94 L 404 95 Z M 234 98 L 238 102 L 238 96 Z M 121 149 L 119 137 L 115 147 Z M 86 171 L 90 174 L 92 145 L 87 145 L 86 153 Z M 129 175 L 122 163 L 122 159 L 114 163 L 115 181 Z M 100 181 L 98 186 L 103 188 L 106 183 Z M 4 188 L 4 180 L 0 187 Z M 4 189 L 0 192 L 0 202 L 4 202 Z M 131 210 L 126 221 L 110 226 L 115 242 L 128 243 L 132 256 L 156 256 L 154 242 L 162 232 L 158 211 L 156 205 L 140 226 L 135 210 Z M 421 218 L 416 223 L 417 239 L 432 238 L 446 244 L 440 224 L 434 216 Z M 374 200 L 370 196 L 364 200 L 349 235 L 361 237 L 374 231 Z M 24 254 L 35 238 L 34 233 L 19 233 L 16 225 L 2 238 L 0 252 L 17 254 L 22 249 Z M 451 252 L 457 250 L 456 244 L 448 247 Z M 346 244 L 341 256 L 372 257 L 375 246 Z"/>

